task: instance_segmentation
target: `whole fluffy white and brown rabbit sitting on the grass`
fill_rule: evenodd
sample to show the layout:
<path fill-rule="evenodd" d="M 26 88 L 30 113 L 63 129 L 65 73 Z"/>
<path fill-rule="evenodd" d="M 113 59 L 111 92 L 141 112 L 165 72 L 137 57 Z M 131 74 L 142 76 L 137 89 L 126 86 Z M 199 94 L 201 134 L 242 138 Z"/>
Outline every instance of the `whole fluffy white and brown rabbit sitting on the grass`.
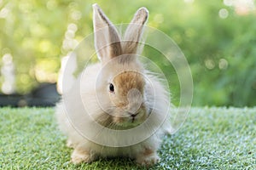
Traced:
<path fill-rule="evenodd" d="M 152 166 L 160 161 L 162 136 L 172 132 L 172 104 L 160 78 L 137 59 L 148 9 L 137 10 L 121 40 L 102 9 L 92 7 L 100 62 L 88 65 L 62 94 L 57 123 L 73 148 L 74 164 L 121 156 Z"/>

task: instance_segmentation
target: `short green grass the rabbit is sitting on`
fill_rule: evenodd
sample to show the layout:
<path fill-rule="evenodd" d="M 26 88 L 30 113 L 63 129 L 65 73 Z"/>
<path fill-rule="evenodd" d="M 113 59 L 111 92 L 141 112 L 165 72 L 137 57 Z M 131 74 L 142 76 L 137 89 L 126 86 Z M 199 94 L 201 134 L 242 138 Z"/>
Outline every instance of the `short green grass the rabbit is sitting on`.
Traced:
<path fill-rule="evenodd" d="M 256 169 L 256 108 L 193 108 L 152 169 Z M 129 159 L 73 165 L 54 109 L 0 109 L 0 169 L 138 169 Z"/>

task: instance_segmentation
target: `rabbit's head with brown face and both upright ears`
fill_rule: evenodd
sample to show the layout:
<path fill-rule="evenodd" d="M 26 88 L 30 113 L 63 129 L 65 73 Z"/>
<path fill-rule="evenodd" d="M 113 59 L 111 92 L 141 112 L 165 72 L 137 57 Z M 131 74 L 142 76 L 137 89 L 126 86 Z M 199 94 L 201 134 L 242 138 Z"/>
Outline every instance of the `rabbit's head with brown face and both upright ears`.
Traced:
<path fill-rule="evenodd" d="M 147 79 L 137 59 L 147 8 L 139 8 L 120 38 L 115 26 L 97 4 L 93 5 L 96 54 L 102 69 L 97 75 L 96 94 L 104 112 L 96 118 L 107 127 L 134 127 L 149 114 L 145 89 Z"/>

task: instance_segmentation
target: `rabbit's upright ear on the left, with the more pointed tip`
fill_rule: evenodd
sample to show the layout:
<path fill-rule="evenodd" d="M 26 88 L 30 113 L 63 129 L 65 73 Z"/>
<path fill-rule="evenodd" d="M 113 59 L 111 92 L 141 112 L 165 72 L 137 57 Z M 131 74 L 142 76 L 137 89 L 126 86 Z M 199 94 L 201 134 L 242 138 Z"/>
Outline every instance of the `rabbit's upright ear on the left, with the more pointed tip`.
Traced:
<path fill-rule="evenodd" d="M 96 54 L 106 61 L 122 54 L 119 34 L 102 9 L 95 3 L 93 7 L 93 27 Z"/>

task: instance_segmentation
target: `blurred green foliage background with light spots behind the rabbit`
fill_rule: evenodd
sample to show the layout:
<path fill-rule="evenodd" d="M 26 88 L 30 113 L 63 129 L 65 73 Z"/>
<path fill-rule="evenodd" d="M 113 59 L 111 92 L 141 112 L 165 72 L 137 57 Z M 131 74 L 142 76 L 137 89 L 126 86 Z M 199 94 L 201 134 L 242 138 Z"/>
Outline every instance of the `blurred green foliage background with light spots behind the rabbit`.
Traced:
<path fill-rule="evenodd" d="M 193 105 L 256 104 L 253 0 L 0 0 L 2 93 L 26 94 L 40 82 L 56 82 L 61 58 L 92 32 L 92 3 L 114 24 L 129 22 L 137 8 L 148 8 L 148 26 L 172 37 L 188 59 Z M 161 62 L 160 67 L 165 70 Z M 172 75 L 177 104 L 178 82 Z"/>

